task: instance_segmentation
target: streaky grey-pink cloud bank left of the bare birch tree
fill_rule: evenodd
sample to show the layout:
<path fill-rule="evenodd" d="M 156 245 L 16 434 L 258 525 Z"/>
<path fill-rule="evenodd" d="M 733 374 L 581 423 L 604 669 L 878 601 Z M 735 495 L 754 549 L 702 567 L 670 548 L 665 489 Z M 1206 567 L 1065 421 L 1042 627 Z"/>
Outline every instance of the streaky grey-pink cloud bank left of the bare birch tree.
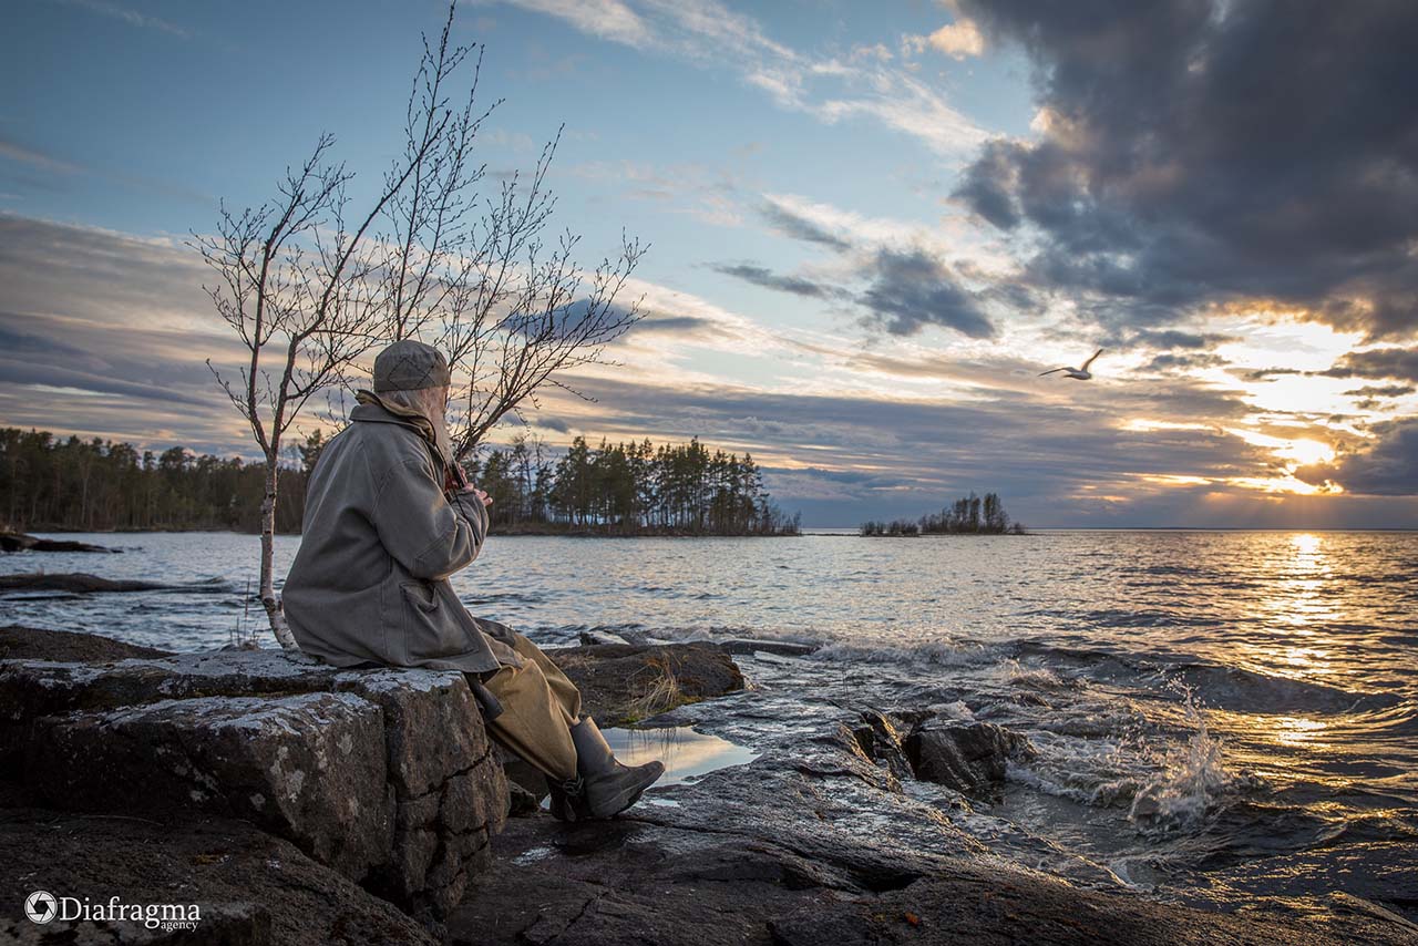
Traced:
<path fill-rule="evenodd" d="M 211 312 L 206 277 L 166 240 L 0 214 L 0 423 L 244 444 L 203 362 L 234 366 L 245 349 Z"/>

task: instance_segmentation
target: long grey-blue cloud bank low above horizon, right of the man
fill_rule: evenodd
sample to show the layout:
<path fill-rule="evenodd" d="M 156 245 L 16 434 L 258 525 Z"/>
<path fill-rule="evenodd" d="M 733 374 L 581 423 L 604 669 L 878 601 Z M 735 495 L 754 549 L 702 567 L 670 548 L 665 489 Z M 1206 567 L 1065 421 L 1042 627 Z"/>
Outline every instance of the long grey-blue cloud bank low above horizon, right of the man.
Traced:
<path fill-rule="evenodd" d="M 1309 518 L 1290 522 L 1290 512 L 1282 513 L 1299 508 L 1290 499 L 1276 503 L 1273 494 L 1232 486 L 1280 477 L 1278 458 L 1228 430 L 1251 413 L 1244 400 L 1180 379 L 1103 386 L 1086 404 L 1054 389 L 939 400 L 610 376 L 579 379 L 576 387 L 596 399 L 563 410 L 574 416 L 577 431 L 613 440 L 698 435 L 726 450 L 752 450 L 764 467 L 791 475 L 784 496 L 791 491 L 794 499 L 784 506 L 803 509 L 810 522 L 915 516 L 968 489 L 1001 491 L 1011 512 L 1031 525 L 1316 528 L 1340 525 L 1332 516 L 1356 508 L 1330 496 L 1330 505 L 1306 506 Z M 1164 423 L 1123 425 L 1120 417 Z M 1401 509 L 1391 506 L 1388 515 L 1401 521 Z"/>

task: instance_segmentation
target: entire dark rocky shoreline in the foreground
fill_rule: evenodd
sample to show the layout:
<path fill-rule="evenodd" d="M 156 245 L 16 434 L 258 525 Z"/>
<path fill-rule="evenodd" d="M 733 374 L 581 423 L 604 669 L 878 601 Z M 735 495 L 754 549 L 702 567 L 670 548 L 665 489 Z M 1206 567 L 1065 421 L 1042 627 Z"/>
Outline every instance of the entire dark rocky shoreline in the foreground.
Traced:
<path fill-rule="evenodd" d="M 753 713 L 712 644 L 557 652 L 607 725 Z M 767 706 L 764 703 L 764 706 Z M 1029 752 L 1005 728 L 841 699 L 749 764 L 563 825 L 509 783 L 458 674 L 272 651 L 163 654 L 0 630 L 0 940 L 115 943 L 1418 943 L 1343 894 L 1221 913 L 991 855 L 968 808 Z M 925 798 L 917 784 L 939 796 Z M 31 923 L 35 891 L 194 902 L 201 925 Z M 1319 892 L 1317 892 L 1319 894 Z"/>

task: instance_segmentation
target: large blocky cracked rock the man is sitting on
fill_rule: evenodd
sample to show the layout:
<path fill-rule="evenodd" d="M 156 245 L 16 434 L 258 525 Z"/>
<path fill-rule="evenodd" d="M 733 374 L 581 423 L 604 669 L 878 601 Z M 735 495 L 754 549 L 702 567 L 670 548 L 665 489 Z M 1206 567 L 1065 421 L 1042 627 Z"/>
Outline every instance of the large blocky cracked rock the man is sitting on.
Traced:
<path fill-rule="evenodd" d="M 0 756 L 54 807 L 250 820 L 430 919 L 509 801 L 462 674 L 279 651 L 0 661 Z"/>

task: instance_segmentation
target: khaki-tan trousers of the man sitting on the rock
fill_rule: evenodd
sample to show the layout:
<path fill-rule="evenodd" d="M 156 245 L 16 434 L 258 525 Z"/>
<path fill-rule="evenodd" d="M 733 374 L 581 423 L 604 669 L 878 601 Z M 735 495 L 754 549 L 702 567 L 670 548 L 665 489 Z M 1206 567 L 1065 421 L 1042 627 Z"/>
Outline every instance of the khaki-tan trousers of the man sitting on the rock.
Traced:
<path fill-rule="evenodd" d="M 502 667 L 484 681 L 502 703 L 488 730 L 549 779 L 574 779 L 571 726 L 581 718 L 581 694 L 536 644 L 520 634 L 513 638 L 522 667 Z"/>

